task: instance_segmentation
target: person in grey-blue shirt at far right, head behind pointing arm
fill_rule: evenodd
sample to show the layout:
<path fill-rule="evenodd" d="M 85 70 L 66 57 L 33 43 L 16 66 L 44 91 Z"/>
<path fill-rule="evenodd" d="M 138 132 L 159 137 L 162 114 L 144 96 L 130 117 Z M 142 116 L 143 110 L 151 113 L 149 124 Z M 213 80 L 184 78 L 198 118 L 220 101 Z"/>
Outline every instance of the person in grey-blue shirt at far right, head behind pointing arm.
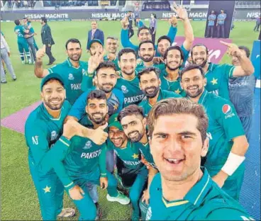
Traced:
<path fill-rule="evenodd" d="M 238 48 L 246 57 L 250 56 L 248 47 L 239 46 Z M 234 66 L 240 66 L 238 57 L 232 57 L 232 64 Z M 245 136 L 247 137 L 248 142 L 250 142 L 255 75 L 252 74 L 250 76 L 233 77 L 229 79 L 228 89 L 231 102 L 235 106 L 235 111 L 238 113 L 238 117 L 245 130 Z"/>

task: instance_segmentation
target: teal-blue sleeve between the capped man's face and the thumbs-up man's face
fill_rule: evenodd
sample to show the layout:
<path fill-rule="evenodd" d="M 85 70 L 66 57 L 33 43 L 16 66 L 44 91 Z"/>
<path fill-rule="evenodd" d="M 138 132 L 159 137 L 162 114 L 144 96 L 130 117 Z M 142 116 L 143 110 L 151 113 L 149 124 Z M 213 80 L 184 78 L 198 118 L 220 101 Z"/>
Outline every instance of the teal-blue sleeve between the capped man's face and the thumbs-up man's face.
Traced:
<path fill-rule="evenodd" d="M 68 115 L 81 120 L 86 115 L 85 107 L 87 106 L 87 96 L 89 91 L 84 92 L 72 105 Z"/>

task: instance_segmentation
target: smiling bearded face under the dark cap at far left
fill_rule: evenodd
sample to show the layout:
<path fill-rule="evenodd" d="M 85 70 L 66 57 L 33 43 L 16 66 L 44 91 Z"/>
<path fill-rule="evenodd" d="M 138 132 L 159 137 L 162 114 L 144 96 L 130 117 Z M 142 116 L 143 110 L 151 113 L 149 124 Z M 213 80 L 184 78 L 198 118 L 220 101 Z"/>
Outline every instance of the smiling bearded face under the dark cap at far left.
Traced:
<path fill-rule="evenodd" d="M 52 111 L 60 110 L 65 101 L 65 89 L 60 81 L 51 79 L 43 86 L 41 98 L 45 103 L 45 106 L 50 108 Z"/>

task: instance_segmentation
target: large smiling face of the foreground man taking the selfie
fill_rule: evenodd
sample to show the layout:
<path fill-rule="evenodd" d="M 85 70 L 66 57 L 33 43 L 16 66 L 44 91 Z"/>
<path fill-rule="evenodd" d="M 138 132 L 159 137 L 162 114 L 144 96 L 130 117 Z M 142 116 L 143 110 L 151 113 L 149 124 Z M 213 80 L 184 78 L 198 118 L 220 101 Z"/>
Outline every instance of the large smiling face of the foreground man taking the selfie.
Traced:
<path fill-rule="evenodd" d="M 184 181 L 200 169 L 206 156 L 198 118 L 191 114 L 161 115 L 155 120 L 150 150 L 157 169 L 167 181 Z"/>

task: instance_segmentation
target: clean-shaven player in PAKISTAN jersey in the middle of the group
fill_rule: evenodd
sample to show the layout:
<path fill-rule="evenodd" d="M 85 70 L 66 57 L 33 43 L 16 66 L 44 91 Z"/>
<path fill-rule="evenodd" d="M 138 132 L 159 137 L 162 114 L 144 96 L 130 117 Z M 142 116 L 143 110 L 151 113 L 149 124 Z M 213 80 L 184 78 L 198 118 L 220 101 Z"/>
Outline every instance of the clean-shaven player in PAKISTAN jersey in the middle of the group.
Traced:
<path fill-rule="evenodd" d="M 138 104 L 144 94 L 140 90 L 139 80 L 135 74 L 137 54 L 132 48 L 123 48 L 118 52 L 118 66 L 121 68 L 121 77 L 117 80 L 116 89 L 123 92 L 124 104 Z"/>

